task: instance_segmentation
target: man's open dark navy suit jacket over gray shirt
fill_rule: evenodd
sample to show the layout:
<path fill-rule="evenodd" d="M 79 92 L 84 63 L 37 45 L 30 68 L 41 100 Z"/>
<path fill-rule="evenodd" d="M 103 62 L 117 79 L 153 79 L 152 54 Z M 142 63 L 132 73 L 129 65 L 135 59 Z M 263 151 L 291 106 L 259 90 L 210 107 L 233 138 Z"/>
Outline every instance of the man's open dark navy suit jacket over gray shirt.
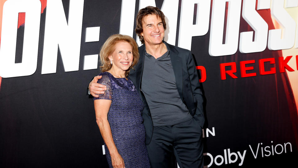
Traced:
<path fill-rule="evenodd" d="M 164 43 L 166 42 L 164 41 Z M 180 98 L 182 102 L 187 106 L 189 113 L 202 128 L 205 122 L 203 113 L 203 95 L 192 54 L 187 49 L 182 49 L 168 43 L 166 44 L 168 45 L 169 55 L 174 69 L 176 85 Z M 149 106 L 146 102 L 146 98 L 142 93 L 141 88 L 145 45 L 139 47 L 139 54 L 140 59 L 135 65 L 134 69 L 130 70 L 129 78 L 138 89 L 142 101 L 145 105 L 142 117 L 144 119 L 144 125 L 146 128 L 146 144 L 148 145 L 152 137 L 153 124 Z"/>

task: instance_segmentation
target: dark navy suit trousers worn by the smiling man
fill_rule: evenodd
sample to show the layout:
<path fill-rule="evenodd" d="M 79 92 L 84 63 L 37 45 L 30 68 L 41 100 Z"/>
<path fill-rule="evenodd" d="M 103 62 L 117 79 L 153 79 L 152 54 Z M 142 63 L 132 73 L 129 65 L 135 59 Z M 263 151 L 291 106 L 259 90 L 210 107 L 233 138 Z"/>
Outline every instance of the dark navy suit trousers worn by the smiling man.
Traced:
<path fill-rule="evenodd" d="M 180 168 L 203 168 L 202 128 L 194 119 L 171 125 L 153 127 L 147 145 L 152 168 L 170 168 L 173 154 Z"/>

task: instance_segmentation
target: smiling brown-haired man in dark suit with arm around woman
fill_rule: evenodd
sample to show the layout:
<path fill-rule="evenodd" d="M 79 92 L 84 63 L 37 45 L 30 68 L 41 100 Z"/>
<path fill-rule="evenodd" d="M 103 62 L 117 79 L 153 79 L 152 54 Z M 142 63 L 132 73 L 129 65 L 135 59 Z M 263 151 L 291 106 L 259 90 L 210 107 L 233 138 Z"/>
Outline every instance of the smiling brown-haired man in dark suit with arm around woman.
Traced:
<path fill-rule="evenodd" d="M 202 168 L 203 96 L 192 54 L 163 41 L 165 16 L 157 7 L 141 9 L 136 23 L 143 45 L 129 78 L 145 104 L 142 117 L 151 166 L 173 166 L 174 154 L 180 168 Z M 96 97 L 104 90 L 98 78 L 89 84 Z"/>

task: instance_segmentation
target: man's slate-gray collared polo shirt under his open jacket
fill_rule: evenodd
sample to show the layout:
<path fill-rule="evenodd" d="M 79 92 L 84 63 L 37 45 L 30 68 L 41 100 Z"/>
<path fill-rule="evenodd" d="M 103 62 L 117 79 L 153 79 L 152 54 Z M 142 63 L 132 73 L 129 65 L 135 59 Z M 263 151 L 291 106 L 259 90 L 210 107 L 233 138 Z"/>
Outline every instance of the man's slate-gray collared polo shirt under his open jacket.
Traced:
<path fill-rule="evenodd" d="M 174 125 L 192 119 L 178 93 L 170 54 L 168 49 L 155 59 L 145 50 L 141 90 L 149 106 L 153 126 Z"/>

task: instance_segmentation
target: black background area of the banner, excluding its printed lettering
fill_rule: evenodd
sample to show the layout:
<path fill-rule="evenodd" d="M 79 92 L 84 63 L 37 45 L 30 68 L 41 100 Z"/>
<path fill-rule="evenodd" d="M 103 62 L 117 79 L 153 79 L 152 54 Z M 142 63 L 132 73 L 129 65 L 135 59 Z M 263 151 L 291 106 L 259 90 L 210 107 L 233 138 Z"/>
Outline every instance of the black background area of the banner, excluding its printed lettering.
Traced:
<path fill-rule="evenodd" d="M 62 2 L 68 18 L 69 0 Z M 65 72 L 58 49 L 57 70 L 51 74 L 41 74 L 45 8 L 41 14 L 36 72 L 30 76 L 2 78 L 1 81 L 1 167 L 107 167 L 93 100 L 86 96 L 88 83 L 99 70 L 83 70 L 83 64 L 84 55 L 99 53 L 108 36 L 119 33 L 121 3 L 121 0 L 84 1 L 79 71 Z M 137 0 L 136 11 L 138 3 Z M 157 7 L 161 8 L 162 3 L 162 0 L 156 0 Z M 181 0 L 178 18 L 180 6 Z M 269 27 L 273 25 L 272 22 L 268 24 Z M 85 43 L 86 27 L 94 26 L 101 27 L 99 41 Z M 22 29 L 24 26 L 18 29 L 20 40 L 17 40 L 17 46 L 22 43 Z M 251 28 L 241 18 L 240 32 L 248 30 Z M 287 73 L 258 73 L 258 59 L 274 57 L 278 62 L 282 52 L 266 48 L 259 53 L 242 54 L 238 50 L 233 55 L 212 57 L 208 53 L 209 38 L 210 29 L 206 35 L 193 37 L 191 49 L 196 64 L 204 66 L 207 73 L 207 80 L 202 83 L 207 119 L 204 128 L 212 131 L 214 127 L 215 131 L 215 136 L 209 133 L 209 137 L 204 138 L 205 153 L 214 159 L 217 155 L 224 157 L 225 149 L 241 154 L 246 150 L 242 167 L 297 166 L 298 117 L 291 90 L 297 86 L 291 86 Z M 17 48 L 16 59 L 21 50 L 21 47 Z M 251 72 L 257 72 L 257 76 L 239 77 L 239 62 L 253 59 L 256 64 Z M 219 64 L 228 62 L 236 62 L 235 74 L 239 78 L 227 76 L 226 80 L 221 80 Z M 287 142 L 291 143 L 292 152 L 288 145 L 287 153 L 261 156 L 261 147 L 269 146 L 272 150 L 271 145 L 284 146 Z M 258 144 L 258 155 L 254 158 L 249 145 L 256 152 Z M 210 157 L 205 156 L 205 165 L 209 163 Z M 224 162 L 221 167 L 238 167 L 239 163 L 238 156 L 235 163 Z M 216 167 L 214 161 L 211 167 Z"/>

